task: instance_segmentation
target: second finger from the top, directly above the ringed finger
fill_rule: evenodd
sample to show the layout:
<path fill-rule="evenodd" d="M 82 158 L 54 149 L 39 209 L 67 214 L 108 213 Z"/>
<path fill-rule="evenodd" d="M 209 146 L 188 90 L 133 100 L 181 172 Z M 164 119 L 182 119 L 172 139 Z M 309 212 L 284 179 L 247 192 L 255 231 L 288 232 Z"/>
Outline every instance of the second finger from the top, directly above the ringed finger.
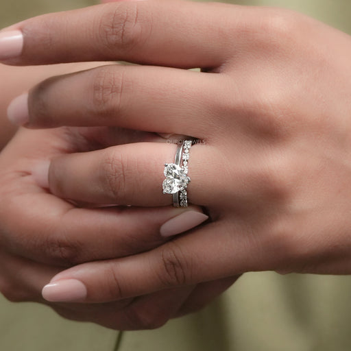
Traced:
<path fill-rule="evenodd" d="M 202 138 L 219 75 L 108 65 L 53 77 L 12 101 L 8 117 L 29 128 L 118 126 Z"/>

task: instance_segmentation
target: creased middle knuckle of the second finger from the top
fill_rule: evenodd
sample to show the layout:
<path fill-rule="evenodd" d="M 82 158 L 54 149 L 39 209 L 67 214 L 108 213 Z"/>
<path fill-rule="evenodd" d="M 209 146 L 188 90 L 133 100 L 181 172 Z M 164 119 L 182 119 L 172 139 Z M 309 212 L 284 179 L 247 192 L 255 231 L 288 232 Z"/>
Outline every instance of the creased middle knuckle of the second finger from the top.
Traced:
<path fill-rule="evenodd" d="M 128 84 L 130 85 L 130 84 Z M 125 89 L 125 73 L 111 67 L 96 69 L 93 75 L 93 113 L 110 118 L 121 112 L 121 99 Z"/>

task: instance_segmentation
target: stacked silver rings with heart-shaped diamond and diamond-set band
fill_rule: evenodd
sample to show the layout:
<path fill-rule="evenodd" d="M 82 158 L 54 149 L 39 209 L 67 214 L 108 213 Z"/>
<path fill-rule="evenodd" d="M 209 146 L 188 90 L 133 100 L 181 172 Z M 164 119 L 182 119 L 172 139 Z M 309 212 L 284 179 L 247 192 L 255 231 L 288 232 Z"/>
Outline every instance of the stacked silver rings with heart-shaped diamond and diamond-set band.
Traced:
<path fill-rule="evenodd" d="M 178 145 L 175 152 L 174 163 L 165 163 L 166 179 L 162 182 L 164 194 L 173 195 L 173 206 L 188 206 L 188 194 L 186 188 L 190 182 L 188 176 L 189 151 L 193 141 L 185 140 Z"/>

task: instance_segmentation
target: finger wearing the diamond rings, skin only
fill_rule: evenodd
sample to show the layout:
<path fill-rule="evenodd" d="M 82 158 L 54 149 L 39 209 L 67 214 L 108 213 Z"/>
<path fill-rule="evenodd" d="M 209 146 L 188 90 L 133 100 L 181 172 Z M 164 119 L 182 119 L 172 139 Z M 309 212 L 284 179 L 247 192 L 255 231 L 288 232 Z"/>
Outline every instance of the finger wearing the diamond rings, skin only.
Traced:
<path fill-rule="evenodd" d="M 176 149 L 168 143 L 134 143 L 55 158 L 49 168 L 49 188 L 58 197 L 78 202 L 169 205 L 172 195 L 162 193 L 164 163 L 173 162 Z M 212 168 L 205 177 L 203 172 L 205 162 L 216 160 L 215 150 L 193 145 L 189 155 L 189 202 L 217 203 L 216 189 L 210 186 Z"/>

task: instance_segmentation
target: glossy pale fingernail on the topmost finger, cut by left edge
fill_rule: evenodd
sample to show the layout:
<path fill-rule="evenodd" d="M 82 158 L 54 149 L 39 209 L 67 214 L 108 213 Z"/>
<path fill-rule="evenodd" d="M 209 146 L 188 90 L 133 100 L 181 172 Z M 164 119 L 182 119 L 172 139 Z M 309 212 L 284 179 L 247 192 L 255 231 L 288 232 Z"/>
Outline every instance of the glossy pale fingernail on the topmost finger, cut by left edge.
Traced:
<path fill-rule="evenodd" d="M 0 60 L 20 56 L 23 49 L 23 34 L 20 30 L 0 33 Z"/>

